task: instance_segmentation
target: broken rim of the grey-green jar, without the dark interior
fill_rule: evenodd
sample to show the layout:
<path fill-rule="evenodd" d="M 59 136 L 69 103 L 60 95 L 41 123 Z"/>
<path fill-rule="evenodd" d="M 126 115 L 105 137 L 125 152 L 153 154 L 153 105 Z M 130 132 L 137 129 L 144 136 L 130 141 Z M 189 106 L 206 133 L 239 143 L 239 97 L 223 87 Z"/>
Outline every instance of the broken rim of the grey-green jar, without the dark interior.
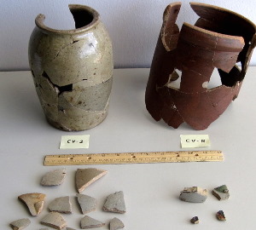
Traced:
<path fill-rule="evenodd" d="M 58 29 L 50 28 L 49 26 L 45 26 L 44 25 L 45 15 L 38 14 L 38 16 L 35 19 L 36 26 L 38 26 L 38 28 L 40 28 L 42 31 L 49 32 L 49 33 L 77 34 L 80 32 L 86 32 L 90 30 L 91 27 L 96 26 L 100 21 L 100 14 L 95 9 L 92 9 L 89 6 L 79 5 L 79 4 L 69 4 L 68 8 L 72 14 L 73 14 L 73 11 L 75 10 L 81 10 L 81 11 L 87 12 L 92 15 L 92 20 L 87 25 L 81 26 L 79 28 L 70 29 L 70 30 L 58 30 Z"/>

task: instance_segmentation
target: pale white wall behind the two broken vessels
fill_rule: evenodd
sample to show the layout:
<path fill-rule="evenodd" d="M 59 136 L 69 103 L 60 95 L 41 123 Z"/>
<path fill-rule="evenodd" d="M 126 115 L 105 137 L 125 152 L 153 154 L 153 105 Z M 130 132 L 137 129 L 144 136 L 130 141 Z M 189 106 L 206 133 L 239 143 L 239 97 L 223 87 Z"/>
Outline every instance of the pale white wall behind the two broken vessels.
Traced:
<path fill-rule="evenodd" d="M 27 44 L 38 14 L 45 14 L 45 25 L 55 29 L 73 29 L 69 3 L 89 5 L 100 14 L 113 40 L 115 67 L 149 67 L 162 24 L 162 14 L 170 0 L 0 0 L 0 71 L 28 70 Z M 177 18 L 177 25 L 194 24 L 198 16 L 189 0 Z M 196 2 L 196 1 L 195 1 Z M 230 9 L 256 23 L 255 0 L 204 0 Z M 256 65 L 256 55 L 251 65 Z"/>

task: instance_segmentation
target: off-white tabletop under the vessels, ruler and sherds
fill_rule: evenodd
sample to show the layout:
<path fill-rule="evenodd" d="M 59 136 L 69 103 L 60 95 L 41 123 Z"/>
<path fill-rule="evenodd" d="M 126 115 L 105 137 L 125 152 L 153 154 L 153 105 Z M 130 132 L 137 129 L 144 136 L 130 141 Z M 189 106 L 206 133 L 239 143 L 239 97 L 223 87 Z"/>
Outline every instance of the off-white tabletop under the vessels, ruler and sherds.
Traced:
<path fill-rule="evenodd" d="M 108 222 L 118 217 L 125 229 L 195 229 L 189 222 L 199 216 L 196 229 L 253 229 L 256 226 L 256 67 L 250 67 L 241 92 L 224 114 L 203 131 L 182 124 L 178 129 L 155 122 L 148 114 L 144 94 L 149 69 L 114 70 L 113 91 L 108 117 L 94 129 L 68 133 L 52 128 L 44 119 L 30 72 L 0 73 L 0 229 L 10 229 L 9 222 L 29 218 L 26 229 L 39 229 L 47 206 L 54 198 L 70 196 L 73 214 L 64 214 L 68 227 L 80 229 L 80 213 L 75 196 L 74 175 L 77 169 L 96 167 L 108 174 L 84 190 L 98 199 L 90 217 Z M 179 151 L 180 135 L 208 134 L 211 147 L 222 150 L 224 162 L 122 164 L 65 166 L 66 181 L 59 187 L 42 187 L 42 176 L 62 166 L 44 166 L 47 154 L 96 152 Z M 61 135 L 90 135 L 89 149 L 60 150 Z M 230 199 L 218 201 L 212 188 L 226 184 Z M 179 200 L 183 187 L 207 188 L 203 204 Z M 123 191 L 127 212 L 113 214 L 102 211 L 110 193 Z M 18 196 L 23 193 L 45 193 L 43 212 L 30 216 Z M 227 221 L 218 221 L 216 212 L 224 210 Z M 207 228 L 206 228 L 207 227 Z M 49 229 L 52 229 L 49 227 Z"/>

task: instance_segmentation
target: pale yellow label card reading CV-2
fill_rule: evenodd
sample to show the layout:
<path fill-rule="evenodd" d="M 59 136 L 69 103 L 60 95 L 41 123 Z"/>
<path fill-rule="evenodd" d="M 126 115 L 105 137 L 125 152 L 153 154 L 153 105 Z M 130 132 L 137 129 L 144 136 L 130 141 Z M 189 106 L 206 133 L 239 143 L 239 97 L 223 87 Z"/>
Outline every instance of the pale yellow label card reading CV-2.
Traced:
<path fill-rule="evenodd" d="M 60 148 L 89 148 L 90 135 L 62 135 Z"/>

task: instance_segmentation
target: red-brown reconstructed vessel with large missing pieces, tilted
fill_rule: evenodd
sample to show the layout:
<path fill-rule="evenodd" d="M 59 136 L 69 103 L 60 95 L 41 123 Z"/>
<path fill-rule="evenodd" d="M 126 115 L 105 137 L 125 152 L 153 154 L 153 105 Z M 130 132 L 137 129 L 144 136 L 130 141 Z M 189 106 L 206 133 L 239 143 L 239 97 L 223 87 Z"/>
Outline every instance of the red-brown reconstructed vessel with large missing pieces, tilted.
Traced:
<path fill-rule="evenodd" d="M 166 7 L 160 37 L 146 89 L 151 116 L 177 128 L 186 122 L 194 129 L 207 129 L 235 100 L 256 44 L 256 27 L 230 10 L 203 3 L 190 3 L 199 15 L 195 26 L 176 20 L 181 3 Z M 236 66 L 241 62 L 241 68 Z M 209 89 L 217 68 L 221 85 Z M 173 82 L 182 72 L 180 87 Z"/>

